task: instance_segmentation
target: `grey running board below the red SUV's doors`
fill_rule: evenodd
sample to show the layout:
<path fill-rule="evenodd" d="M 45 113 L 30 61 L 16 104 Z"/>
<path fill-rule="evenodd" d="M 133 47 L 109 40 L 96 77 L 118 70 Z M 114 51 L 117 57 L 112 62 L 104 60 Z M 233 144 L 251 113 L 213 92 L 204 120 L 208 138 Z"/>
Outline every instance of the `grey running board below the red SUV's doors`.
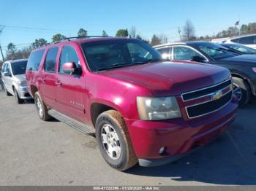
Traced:
<path fill-rule="evenodd" d="M 82 122 L 79 122 L 78 120 L 74 120 L 74 119 L 72 119 L 71 117 L 68 117 L 65 114 L 61 114 L 60 112 L 57 112 L 54 109 L 50 109 L 48 111 L 48 114 L 50 114 L 50 116 L 54 117 L 56 120 L 59 120 L 61 122 L 66 123 L 71 128 L 75 128 L 75 130 L 78 130 L 81 133 L 86 133 L 86 134 L 95 133 L 94 128 L 91 128 L 91 127 L 83 124 Z"/>

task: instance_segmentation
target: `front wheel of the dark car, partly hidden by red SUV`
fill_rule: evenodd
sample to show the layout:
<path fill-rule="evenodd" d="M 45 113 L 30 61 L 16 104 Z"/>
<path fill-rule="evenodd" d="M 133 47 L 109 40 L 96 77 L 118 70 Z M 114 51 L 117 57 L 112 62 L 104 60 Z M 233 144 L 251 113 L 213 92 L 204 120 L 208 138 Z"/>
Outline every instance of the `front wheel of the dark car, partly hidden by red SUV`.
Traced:
<path fill-rule="evenodd" d="M 243 107 L 248 104 L 252 93 L 248 83 L 239 77 L 233 77 L 234 94 L 239 100 L 239 106 Z"/>

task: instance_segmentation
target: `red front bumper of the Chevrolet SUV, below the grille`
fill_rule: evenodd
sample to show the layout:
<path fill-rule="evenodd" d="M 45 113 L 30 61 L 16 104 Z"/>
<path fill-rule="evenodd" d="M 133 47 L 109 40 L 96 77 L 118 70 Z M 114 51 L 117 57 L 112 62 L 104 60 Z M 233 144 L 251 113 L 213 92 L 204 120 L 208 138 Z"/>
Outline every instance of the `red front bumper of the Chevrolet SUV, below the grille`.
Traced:
<path fill-rule="evenodd" d="M 126 120 L 140 165 L 170 163 L 217 138 L 236 118 L 236 98 L 217 112 L 193 120 Z M 159 149 L 165 152 L 159 154 Z"/>

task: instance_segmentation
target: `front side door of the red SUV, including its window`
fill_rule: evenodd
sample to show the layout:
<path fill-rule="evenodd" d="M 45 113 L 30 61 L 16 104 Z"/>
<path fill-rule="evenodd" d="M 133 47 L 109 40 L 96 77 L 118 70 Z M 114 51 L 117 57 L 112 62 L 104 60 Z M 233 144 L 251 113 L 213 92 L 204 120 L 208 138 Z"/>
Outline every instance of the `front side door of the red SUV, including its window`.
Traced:
<path fill-rule="evenodd" d="M 83 74 L 80 76 L 64 74 L 62 66 L 67 62 L 75 63 L 77 67 L 80 67 L 78 54 L 72 46 L 64 46 L 61 50 L 59 69 L 56 76 L 56 109 L 75 120 L 86 122 L 84 92 L 86 80 Z"/>

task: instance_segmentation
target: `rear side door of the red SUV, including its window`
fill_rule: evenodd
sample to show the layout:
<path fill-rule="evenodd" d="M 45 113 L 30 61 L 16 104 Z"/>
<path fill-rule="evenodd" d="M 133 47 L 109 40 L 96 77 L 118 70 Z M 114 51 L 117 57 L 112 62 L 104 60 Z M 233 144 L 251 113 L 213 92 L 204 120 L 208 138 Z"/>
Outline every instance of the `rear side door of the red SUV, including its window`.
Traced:
<path fill-rule="evenodd" d="M 56 60 L 59 47 L 50 47 L 45 56 L 39 90 L 45 104 L 54 107 L 56 105 Z"/>

